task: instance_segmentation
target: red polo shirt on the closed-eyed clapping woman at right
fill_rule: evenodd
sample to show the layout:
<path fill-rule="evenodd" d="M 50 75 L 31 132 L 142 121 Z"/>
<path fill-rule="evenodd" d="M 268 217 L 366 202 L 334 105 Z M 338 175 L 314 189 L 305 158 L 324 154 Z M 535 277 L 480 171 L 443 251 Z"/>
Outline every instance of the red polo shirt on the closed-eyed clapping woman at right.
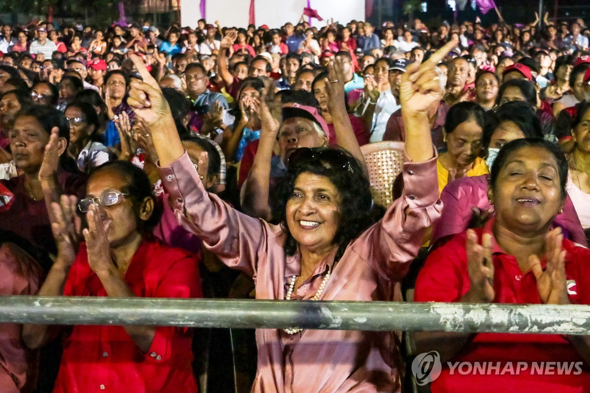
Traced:
<path fill-rule="evenodd" d="M 493 219 L 486 228 L 476 229 L 478 236 L 484 231 L 491 233 Z M 414 300 L 416 302 L 460 302 L 461 296 L 470 287 L 467 274 L 465 250 L 466 232 L 455 235 L 447 244 L 432 251 L 418 275 Z M 569 240 L 563 240 L 566 250 L 566 278 L 569 300 L 572 304 L 590 304 L 590 250 L 578 247 Z M 539 304 L 539 292 L 535 276 L 523 273 L 516 258 L 501 250 L 493 240 L 494 262 L 494 303 Z M 543 268 L 545 259 L 541 261 Z M 455 362 L 500 362 L 500 371 L 506 362 L 527 362 L 526 371 L 519 375 L 460 375 L 450 374 L 445 362 L 441 375 L 431 384 L 432 393 L 440 392 L 524 392 L 569 393 L 588 392 L 590 370 L 576 349 L 565 336 L 478 333 L 461 352 L 450 359 Z M 582 362 L 579 375 L 535 375 L 529 374 L 532 362 Z M 574 369 L 575 371 L 575 369 Z M 499 373 L 496 373 L 499 374 Z"/>

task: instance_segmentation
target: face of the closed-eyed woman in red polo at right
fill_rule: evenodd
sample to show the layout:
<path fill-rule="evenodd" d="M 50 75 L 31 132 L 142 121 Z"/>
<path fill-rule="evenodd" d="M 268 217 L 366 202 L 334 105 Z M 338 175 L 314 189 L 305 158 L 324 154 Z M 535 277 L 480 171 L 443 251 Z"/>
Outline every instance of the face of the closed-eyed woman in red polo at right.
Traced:
<path fill-rule="evenodd" d="M 496 225 L 527 235 L 548 230 L 563 207 L 559 181 L 558 164 L 547 149 L 526 146 L 514 151 L 488 192 Z"/>

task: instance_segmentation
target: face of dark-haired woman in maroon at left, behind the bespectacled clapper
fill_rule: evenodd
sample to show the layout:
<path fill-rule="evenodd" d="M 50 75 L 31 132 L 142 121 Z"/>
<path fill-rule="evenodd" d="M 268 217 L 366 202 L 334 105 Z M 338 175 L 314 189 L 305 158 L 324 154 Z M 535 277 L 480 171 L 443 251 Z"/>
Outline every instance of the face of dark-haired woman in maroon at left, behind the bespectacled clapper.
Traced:
<path fill-rule="evenodd" d="M 19 116 L 8 133 L 12 158 L 25 173 L 39 171 L 49 134 L 32 116 Z"/>

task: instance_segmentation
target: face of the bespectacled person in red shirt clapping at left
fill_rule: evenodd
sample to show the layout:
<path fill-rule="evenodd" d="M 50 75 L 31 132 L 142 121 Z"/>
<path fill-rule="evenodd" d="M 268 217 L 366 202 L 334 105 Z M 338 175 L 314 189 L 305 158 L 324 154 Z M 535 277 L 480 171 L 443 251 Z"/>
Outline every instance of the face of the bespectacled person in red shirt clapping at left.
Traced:
<path fill-rule="evenodd" d="M 86 186 L 86 194 L 88 198 L 98 198 L 104 192 L 115 191 L 123 193 L 127 183 L 119 172 L 110 169 L 95 173 L 90 177 Z M 103 228 L 107 228 L 107 239 L 110 247 L 121 247 L 139 236 L 137 231 L 138 218 L 136 215 L 136 208 L 133 207 L 133 198 L 131 196 L 119 196 L 119 202 L 111 206 L 102 206 L 97 204 L 97 214 Z M 137 201 L 135 203 L 141 203 Z M 152 210 L 149 209 L 147 217 L 142 217 L 147 220 L 151 215 Z M 140 213 L 145 215 L 144 212 Z"/>

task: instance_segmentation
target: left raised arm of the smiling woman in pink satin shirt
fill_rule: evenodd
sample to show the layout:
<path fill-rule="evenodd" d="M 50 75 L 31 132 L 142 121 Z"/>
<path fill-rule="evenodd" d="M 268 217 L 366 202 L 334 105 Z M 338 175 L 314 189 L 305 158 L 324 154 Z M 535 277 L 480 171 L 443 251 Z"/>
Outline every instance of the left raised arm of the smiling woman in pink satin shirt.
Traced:
<path fill-rule="evenodd" d="M 254 275 L 258 253 L 266 248 L 268 225 L 236 211 L 216 195 L 207 194 L 195 163 L 182 147 L 162 90 L 140 59 L 136 55 L 131 58 L 143 81 L 132 82 L 127 103 L 151 130 L 160 178 L 176 218 L 223 263 Z"/>

